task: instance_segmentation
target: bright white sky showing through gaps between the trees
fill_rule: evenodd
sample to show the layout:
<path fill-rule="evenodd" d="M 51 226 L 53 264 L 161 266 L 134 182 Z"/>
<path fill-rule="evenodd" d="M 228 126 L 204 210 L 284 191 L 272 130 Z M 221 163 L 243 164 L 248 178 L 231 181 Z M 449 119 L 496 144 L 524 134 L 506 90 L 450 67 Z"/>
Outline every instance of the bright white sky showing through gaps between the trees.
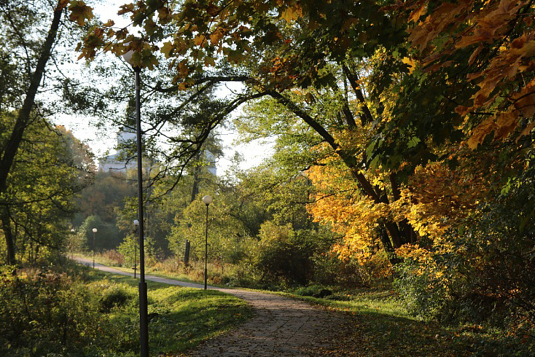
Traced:
<path fill-rule="evenodd" d="M 116 26 L 126 26 L 129 24 L 129 20 L 115 15 L 119 5 L 122 3 L 125 3 L 125 1 L 107 0 L 104 1 L 104 4 L 90 3 L 89 5 L 94 7 L 93 13 L 95 13 L 95 16 L 100 17 L 100 20 L 104 22 L 114 20 Z M 118 59 L 111 60 L 119 61 Z M 116 145 L 117 134 L 115 129 L 97 130 L 87 118 L 82 116 L 62 116 L 56 120 L 56 124 L 65 126 L 77 139 L 91 147 L 96 158 L 107 155 L 108 152 L 115 152 L 114 146 Z M 224 144 L 224 158 L 217 162 L 217 174 L 219 176 L 223 175 L 224 171 L 231 165 L 230 160 L 235 151 L 241 153 L 244 158 L 244 162 L 241 165 L 242 169 L 248 169 L 258 165 L 263 159 L 268 158 L 272 154 L 272 145 L 270 144 L 263 144 L 261 142 L 235 144 L 235 140 L 237 139 L 235 132 L 220 131 L 220 137 Z"/>

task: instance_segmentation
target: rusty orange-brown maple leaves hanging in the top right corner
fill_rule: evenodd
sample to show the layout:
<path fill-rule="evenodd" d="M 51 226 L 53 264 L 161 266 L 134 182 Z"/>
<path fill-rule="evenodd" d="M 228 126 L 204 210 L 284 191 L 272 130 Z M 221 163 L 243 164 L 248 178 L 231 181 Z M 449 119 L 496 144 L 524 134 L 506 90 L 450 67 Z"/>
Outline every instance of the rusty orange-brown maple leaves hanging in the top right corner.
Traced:
<path fill-rule="evenodd" d="M 419 0 L 394 6 L 407 10 L 414 24 L 409 40 L 417 47 L 421 66 L 437 70 L 453 66 L 451 60 L 460 50 L 472 51 L 467 79 L 479 90 L 471 105 L 459 105 L 461 115 L 485 111 L 492 114 L 470 132 L 468 146 L 475 149 L 494 133 L 506 139 L 522 119 L 535 114 L 535 31 L 534 6 L 528 1 L 459 0 L 444 2 L 436 8 L 431 1 Z M 430 10 L 431 8 L 431 10 Z M 445 42 L 444 42 L 445 40 Z M 464 52 L 463 52 L 464 53 Z M 465 56 L 464 54 L 462 56 Z M 535 124 L 522 128 L 527 135 Z"/>

